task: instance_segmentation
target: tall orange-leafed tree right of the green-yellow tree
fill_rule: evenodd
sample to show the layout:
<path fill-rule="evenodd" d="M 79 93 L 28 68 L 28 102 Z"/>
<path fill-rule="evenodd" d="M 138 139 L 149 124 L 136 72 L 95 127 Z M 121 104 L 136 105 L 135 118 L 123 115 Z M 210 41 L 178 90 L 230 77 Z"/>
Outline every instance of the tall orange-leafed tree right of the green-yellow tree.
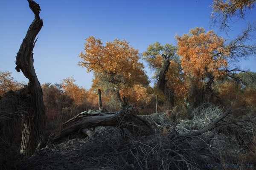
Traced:
<path fill-rule="evenodd" d="M 180 64 L 187 77 L 199 94 L 196 102 L 204 101 L 206 92 L 212 93 L 211 85 L 215 79 L 222 79 L 227 74 L 229 50 L 224 46 L 224 39 L 204 28 L 194 28 L 189 34 L 176 35 Z M 208 96 L 208 95 L 207 95 Z"/>

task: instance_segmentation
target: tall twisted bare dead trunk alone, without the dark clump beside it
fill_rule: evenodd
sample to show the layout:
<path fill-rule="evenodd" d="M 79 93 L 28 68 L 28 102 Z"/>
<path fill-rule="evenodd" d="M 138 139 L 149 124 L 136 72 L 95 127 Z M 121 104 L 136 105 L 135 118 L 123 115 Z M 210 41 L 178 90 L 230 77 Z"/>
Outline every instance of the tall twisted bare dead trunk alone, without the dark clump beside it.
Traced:
<path fill-rule="evenodd" d="M 20 147 L 20 153 L 29 157 L 35 152 L 36 147 L 43 134 L 46 124 L 45 107 L 43 103 L 43 92 L 35 74 L 33 48 L 35 47 L 35 37 L 43 26 L 43 20 L 39 17 L 41 11 L 38 3 L 28 0 L 29 8 L 35 14 L 35 20 L 29 26 L 26 37 L 20 45 L 20 50 L 16 57 L 16 71 L 23 72 L 24 76 L 29 79 L 29 84 L 25 87 L 28 90 L 30 98 L 27 102 L 27 108 L 23 114 L 23 132 Z"/>

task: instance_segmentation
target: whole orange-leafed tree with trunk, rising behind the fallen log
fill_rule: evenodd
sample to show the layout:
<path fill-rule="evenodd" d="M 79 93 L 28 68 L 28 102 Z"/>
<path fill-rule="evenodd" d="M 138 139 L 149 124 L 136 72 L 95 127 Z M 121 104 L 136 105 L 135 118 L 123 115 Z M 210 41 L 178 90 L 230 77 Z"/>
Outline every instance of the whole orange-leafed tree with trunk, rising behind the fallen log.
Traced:
<path fill-rule="evenodd" d="M 126 40 L 114 39 L 105 45 L 95 37 L 85 40 L 85 53 L 79 54 L 82 61 L 78 65 L 86 67 L 87 72 L 93 71 L 95 79 L 98 79 L 96 82 L 108 85 L 108 89 L 116 94 L 116 99 L 122 105 L 119 91 L 132 87 L 139 79 L 146 77 L 144 65 L 139 62 L 138 49 L 131 47 Z"/>

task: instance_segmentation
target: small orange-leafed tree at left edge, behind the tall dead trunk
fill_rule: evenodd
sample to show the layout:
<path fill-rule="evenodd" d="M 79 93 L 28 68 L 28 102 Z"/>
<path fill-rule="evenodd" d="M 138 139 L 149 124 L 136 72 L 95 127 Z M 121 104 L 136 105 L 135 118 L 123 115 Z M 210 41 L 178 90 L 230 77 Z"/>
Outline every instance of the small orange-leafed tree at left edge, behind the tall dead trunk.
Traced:
<path fill-rule="evenodd" d="M 14 80 L 12 72 L 0 71 L 0 96 L 3 96 L 9 90 L 15 91 L 21 88 L 23 88 L 22 83 Z"/>

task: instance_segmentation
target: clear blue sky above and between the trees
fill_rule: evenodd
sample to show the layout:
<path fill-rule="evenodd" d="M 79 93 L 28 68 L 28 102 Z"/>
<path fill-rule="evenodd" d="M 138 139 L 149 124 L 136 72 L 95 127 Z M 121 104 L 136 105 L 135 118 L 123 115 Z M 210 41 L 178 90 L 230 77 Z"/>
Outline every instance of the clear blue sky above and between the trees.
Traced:
<path fill-rule="evenodd" d="M 95 36 L 103 42 L 125 39 L 140 53 L 155 41 L 175 44 L 175 33 L 190 28 L 211 28 L 212 0 L 35 0 L 41 7 L 44 26 L 34 48 L 35 72 L 40 83 L 58 82 L 74 75 L 76 84 L 89 89 L 93 74 L 77 66 L 85 38 Z M 256 16 L 256 9 L 247 17 Z M 254 17 L 255 19 L 255 17 Z M 0 70 L 11 71 L 19 82 L 27 79 L 15 71 L 15 57 L 34 14 L 27 0 L 2 0 L 0 5 Z M 236 34 L 245 22 L 233 25 Z M 221 34 L 225 37 L 225 34 Z M 230 33 L 230 38 L 233 34 Z M 225 37 L 227 38 L 227 37 Z M 242 62 L 251 68 L 256 57 Z M 151 77 L 150 71 L 146 69 Z"/>

